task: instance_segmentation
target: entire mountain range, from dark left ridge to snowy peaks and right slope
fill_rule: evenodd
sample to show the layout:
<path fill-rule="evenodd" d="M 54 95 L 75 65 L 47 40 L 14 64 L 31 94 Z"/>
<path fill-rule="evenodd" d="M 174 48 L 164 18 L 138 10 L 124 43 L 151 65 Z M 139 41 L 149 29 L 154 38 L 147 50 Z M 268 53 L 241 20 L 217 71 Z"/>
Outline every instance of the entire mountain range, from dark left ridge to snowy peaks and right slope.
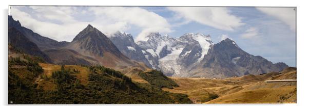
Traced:
<path fill-rule="evenodd" d="M 13 40 L 11 35 L 15 34 L 25 40 L 10 44 L 32 45 L 33 49 L 22 49 L 61 65 L 103 65 L 120 71 L 151 68 L 167 76 L 209 78 L 279 72 L 288 67 L 253 56 L 231 39 L 215 44 L 209 35 L 200 33 L 179 38 L 150 33 L 146 41 L 134 41 L 132 35 L 122 32 L 106 36 L 89 24 L 71 42 L 58 42 L 34 33 L 9 16 L 9 39 Z"/>

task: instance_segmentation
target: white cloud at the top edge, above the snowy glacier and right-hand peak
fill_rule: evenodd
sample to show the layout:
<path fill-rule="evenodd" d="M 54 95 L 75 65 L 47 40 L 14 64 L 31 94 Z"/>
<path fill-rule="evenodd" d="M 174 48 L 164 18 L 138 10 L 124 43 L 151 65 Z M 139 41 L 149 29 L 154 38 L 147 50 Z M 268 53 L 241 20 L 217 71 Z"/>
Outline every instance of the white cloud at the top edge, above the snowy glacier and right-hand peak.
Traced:
<path fill-rule="evenodd" d="M 225 31 L 233 31 L 245 24 L 224 7 L 168 7 L 168 9 L 176 12 L 176 16 Z"/>

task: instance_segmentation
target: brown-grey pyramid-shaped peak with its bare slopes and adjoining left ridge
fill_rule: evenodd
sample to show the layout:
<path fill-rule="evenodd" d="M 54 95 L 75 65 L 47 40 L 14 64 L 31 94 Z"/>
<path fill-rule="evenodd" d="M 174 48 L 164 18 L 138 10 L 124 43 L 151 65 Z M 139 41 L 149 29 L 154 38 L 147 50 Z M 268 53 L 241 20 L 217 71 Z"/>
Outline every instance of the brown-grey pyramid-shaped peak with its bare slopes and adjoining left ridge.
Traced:
<path fill-rule="evenodd" d="M 109 68 L 123 70 L 126 68 L 148 68 L 142 63 L 132 61 L 98 29 L 90 24 L 82 30 L 72 42 L 58 42 L 43 37 L 21 26 L 9 16 L 9 26 L 20 31 L 27 39 L 38 46 L 38 50 L 47 54 L 51 62 L 59 65 L 103 65 Z"/>

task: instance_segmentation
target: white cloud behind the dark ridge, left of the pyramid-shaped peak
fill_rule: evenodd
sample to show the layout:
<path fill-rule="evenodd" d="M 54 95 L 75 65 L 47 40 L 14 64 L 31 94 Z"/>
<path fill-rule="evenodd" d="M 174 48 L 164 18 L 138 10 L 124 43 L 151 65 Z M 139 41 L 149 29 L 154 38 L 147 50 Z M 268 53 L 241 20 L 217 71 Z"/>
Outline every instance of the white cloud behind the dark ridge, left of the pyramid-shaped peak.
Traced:
<path fill-rule="evenodd" d="M 30 14 L 21 11 L 21 7 L 14 6 L 11 8 L 10 14 L 15 20 L 20 20 L 22 26 L 25 26 L 28 29 L 31 29 L 35 33 L 38 33 L 42 36 L 49 37 L 57 41 L 71 41 L 81 30 L 83 30 L 89 22 L 65 22 L 68 18 L 63 17 L 63 14 L 52 14 L 41 13 L 42 8 L 33 9 L 33 12 L 40 15 L 38 17 L 44 17 L 46 19 L 59 20 L 63 22 L 62 24 L 57 24 L 48 21 L 37 20 L 33 18 Z M 49 8 L 49 7 L 46 7 Z M 39 10 L 39 11 L 37 11 Z M 57 10 L 59 11 L 59 10 Z M 49 15 L 49 16 L 48 16 Z M 60 19 L 64 18 L 64 20 Z"/>

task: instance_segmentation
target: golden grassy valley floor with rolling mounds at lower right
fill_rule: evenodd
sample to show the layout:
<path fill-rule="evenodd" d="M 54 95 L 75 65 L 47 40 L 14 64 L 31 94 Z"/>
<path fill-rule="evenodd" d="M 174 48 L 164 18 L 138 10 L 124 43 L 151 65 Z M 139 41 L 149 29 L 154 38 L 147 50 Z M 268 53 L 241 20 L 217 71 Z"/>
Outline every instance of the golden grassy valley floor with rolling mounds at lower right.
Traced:
<path fill-rule="evenodd" d="M 163 90 L 187 94 L 194 103 L 296 103 L 296 82 L 264 82 L 296 79 L 296 68 L 287 68 L 280 73 L 225 79 L 170 78 L 179 87 Z"/>

